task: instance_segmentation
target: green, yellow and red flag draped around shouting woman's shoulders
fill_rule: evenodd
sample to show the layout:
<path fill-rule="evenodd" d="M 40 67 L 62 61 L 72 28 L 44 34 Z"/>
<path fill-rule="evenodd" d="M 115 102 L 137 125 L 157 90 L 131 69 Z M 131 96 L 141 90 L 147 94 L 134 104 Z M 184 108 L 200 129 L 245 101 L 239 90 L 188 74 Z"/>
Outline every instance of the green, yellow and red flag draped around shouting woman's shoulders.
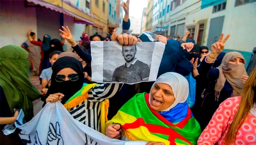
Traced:
<path fill-rule="evenodd" d="M 150 108 L 149 94 L 138 93 L 127 101 L 109 121 L 119 123 L 122 135 L 129 140 L 164 142 L 165 144 L 196 144 L 201 134 L 199 123 L 190 108 L 179 122 L 170 122 Z M 171 111 L 171 110 L 170 110 Z"/>

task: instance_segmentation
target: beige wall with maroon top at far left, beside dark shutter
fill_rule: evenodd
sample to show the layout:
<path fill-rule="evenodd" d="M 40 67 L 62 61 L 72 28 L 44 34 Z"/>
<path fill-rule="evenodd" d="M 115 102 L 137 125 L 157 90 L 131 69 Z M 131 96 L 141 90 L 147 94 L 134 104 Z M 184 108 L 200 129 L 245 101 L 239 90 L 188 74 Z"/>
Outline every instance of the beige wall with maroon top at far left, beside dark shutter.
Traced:
<path fill-rule="evenodd" d="M 37 34 L 36 9 L 25 7 L 23 0 L 0 0 L 0 47 L 20 46 L 27 40 L 27 31 Z"/>

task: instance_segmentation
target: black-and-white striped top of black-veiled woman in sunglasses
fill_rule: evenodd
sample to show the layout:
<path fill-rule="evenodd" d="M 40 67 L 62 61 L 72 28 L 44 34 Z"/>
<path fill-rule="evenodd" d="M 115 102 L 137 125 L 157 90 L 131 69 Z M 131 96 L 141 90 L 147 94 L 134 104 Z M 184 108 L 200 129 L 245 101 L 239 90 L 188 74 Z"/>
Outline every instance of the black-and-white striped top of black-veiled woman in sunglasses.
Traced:
<path fill-rule="evenodd" d="M 88 99 L 70 109 L 70 114 L 78 121 L 100 131 L 100 102 L 112 97 L 121 88 L 121 83 L 102 83 L 88 91 Z"/>

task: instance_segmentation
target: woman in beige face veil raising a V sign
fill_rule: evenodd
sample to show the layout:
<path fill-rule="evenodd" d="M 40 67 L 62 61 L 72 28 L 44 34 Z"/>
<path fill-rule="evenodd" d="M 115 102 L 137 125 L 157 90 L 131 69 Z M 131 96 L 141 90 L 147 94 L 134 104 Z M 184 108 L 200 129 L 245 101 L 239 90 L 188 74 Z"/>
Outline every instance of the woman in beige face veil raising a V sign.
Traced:
<path fill-rule="evenodd" d="M 222 33 L 219 40 L 212 44 L 211 52 L 203 59 L 198 70 L 201 77 L 208 78 L 208 81 L 212 83 L 208 88 L 209 90 L 206 91 L 207 94 L 202 94 L 204 97 L 200 109 L 202 117 L 197 118 L 201 129 L 204 129 L 209 123 L 221 102 L 230 96 L 240 95 L 243 84 L 248 78 L 244 68 L 245 60 L 239 52 L 226 53 L 220 66 L 212 67 L 229 37 L 228 34 L 223 39 L 223 35 Z"/>

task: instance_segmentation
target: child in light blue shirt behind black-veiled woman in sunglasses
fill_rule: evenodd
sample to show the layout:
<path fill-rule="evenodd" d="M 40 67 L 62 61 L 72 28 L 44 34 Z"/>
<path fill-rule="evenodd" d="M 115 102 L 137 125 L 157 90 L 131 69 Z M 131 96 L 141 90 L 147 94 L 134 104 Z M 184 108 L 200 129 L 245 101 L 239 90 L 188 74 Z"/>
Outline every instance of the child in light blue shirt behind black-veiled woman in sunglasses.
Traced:
<path fill-rule="evenodd" d="M 58 59 L 58 56 L 60 53 L 61 53 L 61 51 L 58 51 L 58 50 L 50 53 L 49 61 L 50 61 L 51 65 L 53 65 L 53 63 Z M 49 85 L 49 80 L 51 79 L 51 76 L 52 76 L 52 67 L 46 68 L 42 71 L 42 73 L 40 75 L 40 78 L 42 78 L 42 89 L 44 89 L 47 84 Z M 45 94 L 46 94 L 46 92 L 45 92 Z"/>

